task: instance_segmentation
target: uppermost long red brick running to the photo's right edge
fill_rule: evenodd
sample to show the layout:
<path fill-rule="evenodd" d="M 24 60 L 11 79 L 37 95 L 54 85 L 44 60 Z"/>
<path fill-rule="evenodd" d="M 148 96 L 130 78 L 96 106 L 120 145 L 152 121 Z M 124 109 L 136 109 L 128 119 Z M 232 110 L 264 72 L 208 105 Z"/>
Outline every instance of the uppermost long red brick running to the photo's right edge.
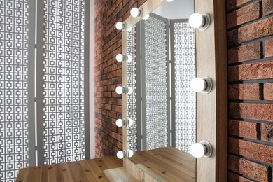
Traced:
<path fill-rule="evenodd" d="M 273 35 L 273 17 L 228 32 L 228 47 Z"/>

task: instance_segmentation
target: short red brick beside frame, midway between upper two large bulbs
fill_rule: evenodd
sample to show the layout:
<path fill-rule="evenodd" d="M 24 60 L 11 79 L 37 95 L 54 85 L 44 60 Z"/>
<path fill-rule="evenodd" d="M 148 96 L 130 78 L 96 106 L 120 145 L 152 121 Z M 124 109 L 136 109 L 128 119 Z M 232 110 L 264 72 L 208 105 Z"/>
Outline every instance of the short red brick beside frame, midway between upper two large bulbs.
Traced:
<path fill-rule="evenodd" d="M 228 63 L 246 62 L 262 59 L 262 43 L 251 43 L 228 50 Z"/>

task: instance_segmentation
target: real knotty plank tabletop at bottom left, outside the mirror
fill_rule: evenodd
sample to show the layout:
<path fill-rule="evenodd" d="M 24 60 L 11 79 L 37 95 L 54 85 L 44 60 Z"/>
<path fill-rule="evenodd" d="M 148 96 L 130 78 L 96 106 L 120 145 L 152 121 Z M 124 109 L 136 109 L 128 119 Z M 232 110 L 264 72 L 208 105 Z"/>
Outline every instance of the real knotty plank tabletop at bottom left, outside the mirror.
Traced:
<path fill-rule="evenodd" d="M 16 182 L 108 181 L 103 170 L 123 167 L 116 156 L 20 169 Z"/>

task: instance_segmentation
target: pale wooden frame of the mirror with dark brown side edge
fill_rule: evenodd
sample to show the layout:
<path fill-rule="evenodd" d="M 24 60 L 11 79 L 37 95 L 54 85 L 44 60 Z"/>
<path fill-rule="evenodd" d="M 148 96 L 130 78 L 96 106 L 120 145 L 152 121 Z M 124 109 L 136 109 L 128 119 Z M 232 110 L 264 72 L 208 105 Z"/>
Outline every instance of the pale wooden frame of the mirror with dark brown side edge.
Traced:
<path fill-rule="evenodd" d="M 151 13 L 165 0 L 147 0 L 142 6 L 143 16 Z M 197 77 L 209 76 L 213 89 L 209 94 L 197 94 L 197 142 L 211 143 L 211 157 L 198 158 L 196 181 L 227 181 L 228 173 L 228 64 L 224 0 L 195 0 L 195 13 L 208 13 L 209 28 L 196 30 Z M 139 22 L 130 16 L 125 20 L 123 54 L 126 48 L 126 30 Z M 127 63 L 123 62 L 123 85 L 127 83 Z M 127 95 L 123 94 L 123 118 L 127 118 Z M 123 150 L 127 150 L 127 127 L 123 127 Z M 130 159 L 123 159 L 123 167 L 137 179 L 149 177 Z M 144 178 L 145 176 L 145 178 Z"/>

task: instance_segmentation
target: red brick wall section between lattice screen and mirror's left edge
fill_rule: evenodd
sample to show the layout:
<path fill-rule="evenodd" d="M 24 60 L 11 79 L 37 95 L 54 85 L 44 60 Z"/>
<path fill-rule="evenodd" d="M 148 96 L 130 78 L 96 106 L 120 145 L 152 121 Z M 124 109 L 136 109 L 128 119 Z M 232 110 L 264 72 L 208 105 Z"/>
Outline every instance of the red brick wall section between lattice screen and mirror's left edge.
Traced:
<path fill-rule="evenodd" d="M 121 53 L 121 31 L 116 22 L 130 16 L 132 7 L 146 0 L 94 0 L 94 127 L 96 158 L 116 155 L 123 148 L 123 130 L 116 127 L 122 118 L 122 97 L 115 89 L 122 83 L 121 63 L 116 55 Z"/>

